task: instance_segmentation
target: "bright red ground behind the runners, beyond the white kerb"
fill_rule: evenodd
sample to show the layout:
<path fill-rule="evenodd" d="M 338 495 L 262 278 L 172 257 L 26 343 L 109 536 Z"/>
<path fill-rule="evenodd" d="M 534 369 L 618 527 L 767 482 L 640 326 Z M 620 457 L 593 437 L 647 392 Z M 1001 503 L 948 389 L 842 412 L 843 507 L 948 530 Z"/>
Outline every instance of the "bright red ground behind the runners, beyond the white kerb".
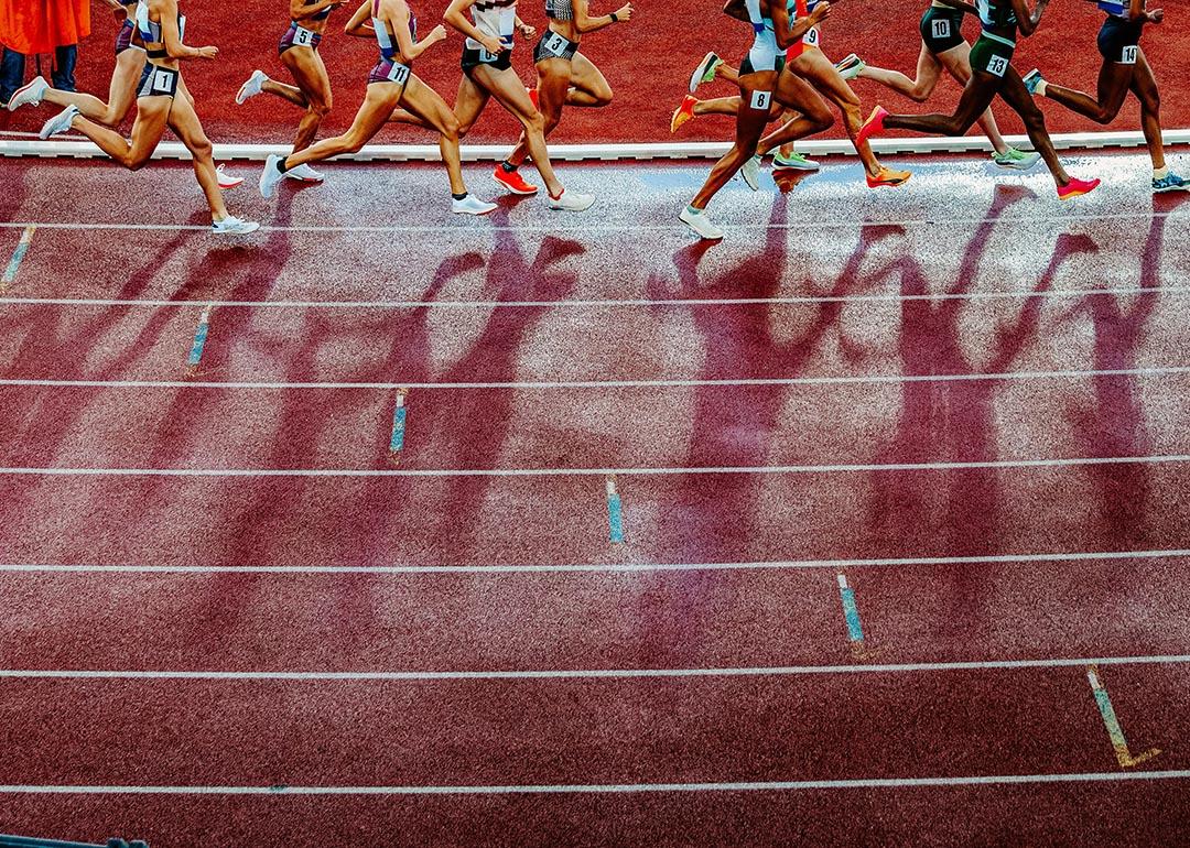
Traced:
<path fill-rule="evenodd" d="M 619 0 L 614 0 L 619 5 Z M 858 52 L 873 64 L 913 74 L 921 46 L 917 19 L 927 0 L 919 0 L 897 8 L 898 4 L 873 6 L 860 0 L 841 0 L 833 11 L 825 32 L 825 49 L 832 58 Z M 276 43 L 286 25 L 286 6 L 280 0 L 248 0 L 246 2 L 206 2 L 190 11 L 188 32 L 193 43 L 217 44 L 223 54 L 214 63 L 190 63 L 187 80 L 200 100 L 200 114 L 207 131 L 217 142 L 288 142 L 298 125 L 299 113 L 292 106 L 273 98 L 256 98 L 248 106 L 237 107 L 233 98 L 239 84 L 256 67 L 288 82 L 284 68 L 276 59 Z M 431 25 L 445 7 L 414 4 L 425 26 Z M 630 25 L 589 36 L 583 43 L 588 54 L 605 71 L 616 92 L 616 102 L 606 109 L 570 109 L 558 128 L 558 142 L 662 142 L 669 133 L 670 113 L 682 101 L 694 64 L 707 50 L 718 50 L 737 62 L 746 49 L 747 29 L 720 14 L 720 4 L 707 0 L 672 0 L 666 4 L 641 4 Z M 1146 29 L 1144 46 L 1157 69 L 1166 93 L 1163 118 L 1167 127 L 1190 126 L 1190 101 L 1176 96 L 1180 81 L 1190 78 L 1190 30 L 1185 26 L 1184 11 L 1170 4 L 1164 26 Z M 521 4 L 521 14 L 537 26 L 545 25 L 540 5 Z M 600 13 L 613 7 L 603 0 Z M 708 18 L 709 15 L 709 18 Z M 1094 92 L 1100 68 L 1095 36 L 1102 21 L 1091 4 L 1054 4 L 1042 21 L 1041 30 L 1022 40 L 1015 64 L 1021 73 L 1040 67 L 1054 81 Z M 331 19 L 331 36 L 322 46 L 331 80 L 334 83 L 336 109 L 324 125 L 324 133 L 334 133 L 349 126 L 364 89 L 368 70 L 374 63 L 374 48 L 362 39 L 347 38 L 339 32 L 346 13 L 342 10 Z M 706 21 L 706 23 L 703 23 Z M 967 21 L 969 37 L 973 38 L 975 24 Z M 80 69 L 80 84 L 86 90 L 107 92 L 112 67 L 111 42 L 114 27 L 106 14 L 95 15 L 95 32 L 84 45 Z M 418 73 L 453 102 L 458 88 L 458 55 L 461 38 L 451 36 L 444 45 L 431 50 L 418 62 Z M 533 82 L 530 52 L 532 45 L 519 49 L 518 64 L 525 81 Z M 901 100 L 896 94 L 860 81 L 857 92 L 865 102 L 884 102 L 894 111 L 951 111 L 958 101 L 958 88 L 944 81 L 939 86 L 933 108 Z M 710 90 L 710 89 L 708 89 Z M 732 94 L 726 87 L 721 95 Z M 708 95 L 710 96 L 710 95 Z M 1086 121 L 1054 105 L 1045 107 L 1051 131 L 1070 132 L 1096 130 Z M 0 130 L 36 130 L 50 114 L 48 109 L 26 111 L 10 120 L 0 112 Z M 1015 115 L 998 107 L 1003 127 L 1020 132 Z M 1133 101 L 1121 113 L 1116 130 L 1135 130 L 1139 109 Z M 515 125 L 497 107 L 488 109 L 476 126 L 471 140 L 509 143 Z M 841 131 L 835 127 L 835 136 Z M 683 140 L 724 140 L 731 134 L 722 120 L 700 120 L 684 128 Z M 425 133 L 394 128 L 382 134 L 386 142 L 426 143 Z"/>

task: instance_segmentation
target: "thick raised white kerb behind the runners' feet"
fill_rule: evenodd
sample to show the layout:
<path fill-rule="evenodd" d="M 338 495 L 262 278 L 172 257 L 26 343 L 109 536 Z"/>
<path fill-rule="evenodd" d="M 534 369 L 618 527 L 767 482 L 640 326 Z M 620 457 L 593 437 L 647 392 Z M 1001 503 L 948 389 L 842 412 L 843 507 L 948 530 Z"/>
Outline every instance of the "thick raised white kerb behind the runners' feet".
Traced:
<path fill-rule="evenodd" d="M 1009 136 L 1009 144 L 1029 149 L 1026 136 Z M 1072 132 L 1052 137 L 1057 150 L 1094 150 L 1104 147 L 1141 147 L 1145 137 L 1140 132 Z M 1165 144 L 1190 143 L 1190 130 L 1166 130 Z M 966 151 L 990 151 L 982 137 L 960 138 L 873 138 L 872 150 L 877 153 L 950 153 Z M 718 159 L 731 147 L 722 142 L 663 142 L 626 144 L 555 144 L 550 145 L 550 158 L 566 162 L 584 159 Z M 854 156 L 856 149 L 846 138 L 814 138 L 797 143 L 798 151 L 807 156 Z M 270 153 L 286 155 L 290 149 L 281 144 L 217 144 L 217 159 L 264 159 Z M 494 162 L 506 158 L 512 146 L 506 144 L 465 144 L 459 149 L 464 162 Z M 95 158 L 105 155 L 88 140 L 0 140 L 0 156 L 71 157 Z M 165 142 L 154 151 L 155 159 L 189 159 L 189 151 L 176 142 Z M 441 152 L 430 144 L 377 144 L 369 145 L 358 153 L 338 157 L 346 162 L 439 162 Z"/>

